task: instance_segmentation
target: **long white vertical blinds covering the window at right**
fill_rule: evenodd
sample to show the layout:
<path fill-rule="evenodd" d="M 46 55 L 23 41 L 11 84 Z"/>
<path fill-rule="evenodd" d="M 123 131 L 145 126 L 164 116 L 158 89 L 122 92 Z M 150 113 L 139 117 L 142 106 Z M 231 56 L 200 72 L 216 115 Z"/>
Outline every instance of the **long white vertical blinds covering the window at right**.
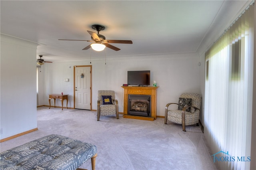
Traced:
<path fill-rule="evenodd" d="M 253 47 L 250 6 L 205 53 L 205 135 L 221 169 L 250 169 Z"/>

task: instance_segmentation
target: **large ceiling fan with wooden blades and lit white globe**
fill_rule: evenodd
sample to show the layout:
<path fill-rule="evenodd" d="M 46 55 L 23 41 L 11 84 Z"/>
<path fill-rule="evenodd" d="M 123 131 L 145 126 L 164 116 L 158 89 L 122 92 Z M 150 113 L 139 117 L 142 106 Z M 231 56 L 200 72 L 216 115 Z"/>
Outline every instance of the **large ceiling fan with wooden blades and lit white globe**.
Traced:
<path fill-rule="evenodd" d="M 106 40 L 105 36 L 99 34 L 100 31 L 105 30 L 104 26 L 92 25 L 92 29 L 94 29 L 98 32 L 98 34 L 97 34 L 95 32 L 87 31 L 91 35 L 92 40 L 68 40 L 68 41 L 94 42 L 94 43 L 91 43 L 90 45 L 84 47 L 83 50 L 84 49 L 90 49 L 90 47 L 92 47 L 92 49 L 94 49 L 95 51 L 102 51 L 102 50 L 105 49 L 105 47 L 108 47 L 108 48 L 113 49 L 115 51 L 120 50 L 120 48 L 115 47 L 113 45 L 110 45 L 109 43 L 129 43 L 129 44 L 132 44 L 131 40 Z M 59 39 L 59 40 L 65 40 L 65 39 Z"/>

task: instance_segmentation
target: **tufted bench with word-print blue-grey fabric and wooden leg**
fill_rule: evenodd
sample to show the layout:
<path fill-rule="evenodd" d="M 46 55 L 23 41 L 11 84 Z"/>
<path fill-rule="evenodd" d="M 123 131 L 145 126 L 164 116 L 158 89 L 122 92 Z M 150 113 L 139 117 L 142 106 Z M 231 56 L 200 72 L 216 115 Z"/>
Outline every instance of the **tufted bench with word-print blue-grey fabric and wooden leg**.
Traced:
<path fill-rule="evenodd" d="M 95 145 L 58 134 L 48 135 L 0 153 L 1 170 L 75 170 L 87 160 L 95 169 Z"/>

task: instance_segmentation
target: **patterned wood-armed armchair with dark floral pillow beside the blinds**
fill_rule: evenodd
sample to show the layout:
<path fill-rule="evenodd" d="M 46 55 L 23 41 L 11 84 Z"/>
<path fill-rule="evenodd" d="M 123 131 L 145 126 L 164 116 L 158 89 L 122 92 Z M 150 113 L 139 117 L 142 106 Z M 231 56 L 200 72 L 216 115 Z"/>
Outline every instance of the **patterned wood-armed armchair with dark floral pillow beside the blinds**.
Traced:
<path fill-rule="evenodd" d="M 182 93 L 178 103 L 168 103 L 165 107 L 164 124 L 167 120 L 182 124 L 182 130 L 186 132 L 185 126 L 196 124 L 199 126 L 199 113 L 202 96 L 196 93 Z M 176 110 L 168 110 L 172 104 L 178 105 Z"/>

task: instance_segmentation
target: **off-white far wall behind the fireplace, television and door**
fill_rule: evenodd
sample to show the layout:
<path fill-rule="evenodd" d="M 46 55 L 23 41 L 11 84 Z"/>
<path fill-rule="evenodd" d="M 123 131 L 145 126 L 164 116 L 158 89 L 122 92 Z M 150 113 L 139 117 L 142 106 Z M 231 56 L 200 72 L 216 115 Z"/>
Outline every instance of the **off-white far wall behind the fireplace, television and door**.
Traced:
<path fill-rule="evenodd" d="M 169 102 L 178 102 L 183 92 L 200 93 L 199 56 L 196 53 L 165 55 L 140 55 L 127 57 L 92 58 L 92 109 L 97 109 L 97 91 L 114 90 L 118 99 L 119 111 L 123 112 L 123 89 L 127 83 L 128 70 L 150 70 L 150 85 L 153 81 L 159 86 L 157 90 L 157 115 L 164 116 L 164 108 Z M 74 106 L 73 67 L 90 65 L 89 59 L 79 61 L 54 61 L 44 64 L 45 96 L 44 105 L 49 105 L 48 94 L 68 94 L 68 107 Z M 70 79 L 64 82 L 64 78 Z M 61 106 L 60 101 L 56 101 Z"/>

